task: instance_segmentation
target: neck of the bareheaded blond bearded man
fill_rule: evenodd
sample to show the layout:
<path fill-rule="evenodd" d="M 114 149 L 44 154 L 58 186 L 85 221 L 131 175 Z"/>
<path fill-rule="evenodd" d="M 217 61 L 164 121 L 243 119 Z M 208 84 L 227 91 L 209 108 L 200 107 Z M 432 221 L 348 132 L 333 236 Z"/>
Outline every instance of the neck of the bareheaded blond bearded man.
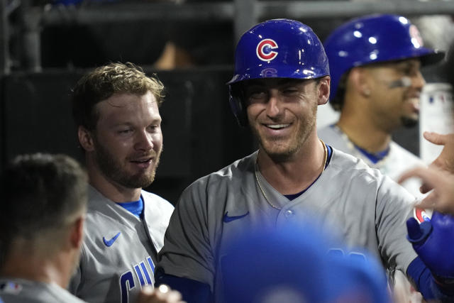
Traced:
<path fill-rule="evenodd" d="M 141 188 L 128 188 L 118 184 L 108 177 L 104 176 L 97 168 L 96 163 L 87 160 L 87 172 L 89 176 L 89 184 L 96 188 L 104 197 L 111 199 L 114 202 L 131 202 L 137 201 L 140 198 Z"/>

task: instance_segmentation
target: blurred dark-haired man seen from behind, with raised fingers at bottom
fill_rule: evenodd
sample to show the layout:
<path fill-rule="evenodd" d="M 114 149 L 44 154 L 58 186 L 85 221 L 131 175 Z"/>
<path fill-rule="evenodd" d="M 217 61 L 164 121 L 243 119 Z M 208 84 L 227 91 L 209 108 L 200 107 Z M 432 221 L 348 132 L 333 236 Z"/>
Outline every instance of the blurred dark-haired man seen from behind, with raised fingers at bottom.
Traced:
<path fill-rule="evenodd" d="M 87 174 L 67 155 L 19 155 L 1 173 L 0 302 L 82 303 L 66 290 L 79 264 Z M 161 285 L 136 303 L 182 303 Z"/>

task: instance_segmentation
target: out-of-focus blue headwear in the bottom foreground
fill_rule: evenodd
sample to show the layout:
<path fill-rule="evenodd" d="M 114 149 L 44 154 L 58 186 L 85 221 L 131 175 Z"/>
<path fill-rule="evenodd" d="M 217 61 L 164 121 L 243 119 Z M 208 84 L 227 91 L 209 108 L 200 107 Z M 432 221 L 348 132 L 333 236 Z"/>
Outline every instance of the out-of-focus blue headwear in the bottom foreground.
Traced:
<path fill-rule="evenodd" d="M 342 244 L 310 222 L 245 231 L 231 241 L 221 260 L 223 302 L 391 302 L 385 272 L 372 255 L 330 250 Z"/>

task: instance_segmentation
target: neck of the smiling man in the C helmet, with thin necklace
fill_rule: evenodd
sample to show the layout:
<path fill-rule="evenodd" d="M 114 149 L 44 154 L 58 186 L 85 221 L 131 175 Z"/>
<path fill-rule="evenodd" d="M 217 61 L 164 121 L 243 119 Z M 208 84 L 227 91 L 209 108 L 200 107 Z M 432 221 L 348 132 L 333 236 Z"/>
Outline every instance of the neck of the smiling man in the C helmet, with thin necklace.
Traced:
<path fill-rule="evenodd" d="M 288 160 L 275 161 L 260 148 L 258 166 L 263 177 L 281 194 L 297 194 L 323 172 L 326 151 L 314 135 Z"/>

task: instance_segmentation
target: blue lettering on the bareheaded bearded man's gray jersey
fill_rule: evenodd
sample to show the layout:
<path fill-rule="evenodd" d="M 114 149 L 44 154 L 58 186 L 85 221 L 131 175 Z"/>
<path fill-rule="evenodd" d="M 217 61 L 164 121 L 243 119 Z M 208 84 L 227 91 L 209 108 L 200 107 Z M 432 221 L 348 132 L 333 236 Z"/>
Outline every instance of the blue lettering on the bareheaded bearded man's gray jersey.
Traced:
<path fill-rule="evenodd" d="M 147 284 L 153 286 L 154 281 L 152 280 L 152 277 L 154 277 L 154 273 L 155 264 L 153 263 L 153 260 L 150 256 L 148 256 L 140 263 L 134 265 L 133 269 L 124 272 L 120 276 L 119 281 L 121 290 L 121 303 L 129 302 L 129 292 L 131 292 L 131 290 L 133 290 L 133 288 L 136 286 L 135 281 L 138 281 L 140 283 L 140 287 Z"/>

